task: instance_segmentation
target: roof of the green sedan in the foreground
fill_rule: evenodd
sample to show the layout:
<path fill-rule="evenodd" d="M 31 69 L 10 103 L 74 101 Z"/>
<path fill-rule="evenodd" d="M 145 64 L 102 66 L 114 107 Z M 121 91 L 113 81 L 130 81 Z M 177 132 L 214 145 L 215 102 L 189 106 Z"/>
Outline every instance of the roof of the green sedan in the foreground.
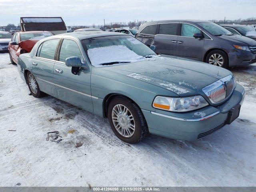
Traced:
<path fill-rule="evenodd" d="M 127 35 L 123 33 L 118 32 L 100 32 L 100 31 L 77 31 L 77 32 L 71 32 L 71 33 L 63 33 L 59 35 L 54 35 L 51 37 L 59 37 L 59 38 L 78 38 L 80 40 L 94 38 L 94 37 L 104 37 L 104 36 L 115 36 L 115 35 Z M 49 37 L 50 38 L 50 37 Z"/>

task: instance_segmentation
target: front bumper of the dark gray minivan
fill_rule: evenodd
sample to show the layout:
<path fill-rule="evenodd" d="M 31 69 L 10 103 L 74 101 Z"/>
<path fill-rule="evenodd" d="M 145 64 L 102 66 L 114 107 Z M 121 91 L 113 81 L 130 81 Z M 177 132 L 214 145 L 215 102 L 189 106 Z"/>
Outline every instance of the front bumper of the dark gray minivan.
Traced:
<path fill-rule="evenodd" d="M 256 54 L 249 51 L 236 50 L 228 54 L 229 66 L 248 66 L 256 63 Z"/>

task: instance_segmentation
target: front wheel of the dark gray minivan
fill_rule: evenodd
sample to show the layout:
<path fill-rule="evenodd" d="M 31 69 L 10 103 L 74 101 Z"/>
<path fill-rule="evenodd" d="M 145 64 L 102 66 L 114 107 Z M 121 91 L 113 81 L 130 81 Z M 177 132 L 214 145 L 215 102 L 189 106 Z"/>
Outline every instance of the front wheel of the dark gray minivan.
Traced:
<path fill-rule="evenodd" d="M 228 56 L 222 50 L 212 50 L 206 56 L 206 62 L 215 66 L 228 68 Z"/>

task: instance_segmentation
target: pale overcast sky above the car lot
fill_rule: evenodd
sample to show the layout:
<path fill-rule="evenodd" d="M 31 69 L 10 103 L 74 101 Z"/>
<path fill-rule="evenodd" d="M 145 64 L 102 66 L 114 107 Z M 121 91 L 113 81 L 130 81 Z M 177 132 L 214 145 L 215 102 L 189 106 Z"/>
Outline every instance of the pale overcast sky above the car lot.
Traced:
<path fill-rule="evenodd" d="M 220 20 L 255 17 L 256 0 L 0 0 L 0 26 L 20 17 L 61 16 L 69 25 L 134 20 Z"/>

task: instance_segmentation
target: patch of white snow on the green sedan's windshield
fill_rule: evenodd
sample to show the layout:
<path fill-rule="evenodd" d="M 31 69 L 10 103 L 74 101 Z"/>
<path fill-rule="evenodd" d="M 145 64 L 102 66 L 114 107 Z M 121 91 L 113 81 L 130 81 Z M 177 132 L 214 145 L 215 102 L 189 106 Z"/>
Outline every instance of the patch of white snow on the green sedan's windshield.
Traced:
<path fill-rule="evenodd" d="M 92 48 L 88 49 L 87 53 L 93 66 L 110 62 L 136 62 L 144 59 L 124 45 Z"/>

